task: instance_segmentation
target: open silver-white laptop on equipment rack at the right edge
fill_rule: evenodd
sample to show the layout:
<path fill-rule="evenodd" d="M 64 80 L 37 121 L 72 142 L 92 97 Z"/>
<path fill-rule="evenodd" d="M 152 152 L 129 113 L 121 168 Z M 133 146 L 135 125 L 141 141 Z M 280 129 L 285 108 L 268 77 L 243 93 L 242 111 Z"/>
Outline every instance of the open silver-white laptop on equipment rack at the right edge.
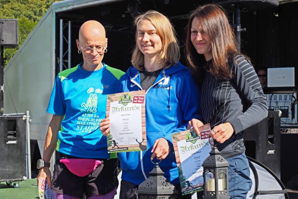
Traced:
<path fill-rule="evenodd" d="M 295 67 L 268 68 L 267 87 L 295 87 Z"/>

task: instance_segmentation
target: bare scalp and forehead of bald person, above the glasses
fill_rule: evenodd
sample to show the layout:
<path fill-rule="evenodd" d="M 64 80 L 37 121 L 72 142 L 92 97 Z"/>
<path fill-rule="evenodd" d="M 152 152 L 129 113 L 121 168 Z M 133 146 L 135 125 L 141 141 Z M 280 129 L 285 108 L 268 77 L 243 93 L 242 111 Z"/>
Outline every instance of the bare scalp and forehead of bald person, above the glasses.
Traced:
<path fill-rule="evenodd" d="M 79 28 L 78 40 L 92 39 L 98 37 L 106 38 L 105 29 L 98 21 L 90 20 L 84 22 Z"/>

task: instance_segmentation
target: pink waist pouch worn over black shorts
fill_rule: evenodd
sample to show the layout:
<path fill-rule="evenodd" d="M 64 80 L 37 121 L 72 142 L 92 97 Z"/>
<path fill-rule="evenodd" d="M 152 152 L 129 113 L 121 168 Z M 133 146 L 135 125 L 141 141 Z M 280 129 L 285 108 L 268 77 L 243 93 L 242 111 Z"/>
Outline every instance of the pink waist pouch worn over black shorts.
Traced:
<path fill-rule="evenodd" d="M 101 165 L 100 160 L 94 159 L 61 159 L 61 163 L 72 172 L 74 175 L 83 177 L 93 172 L 98 166 Z"/>

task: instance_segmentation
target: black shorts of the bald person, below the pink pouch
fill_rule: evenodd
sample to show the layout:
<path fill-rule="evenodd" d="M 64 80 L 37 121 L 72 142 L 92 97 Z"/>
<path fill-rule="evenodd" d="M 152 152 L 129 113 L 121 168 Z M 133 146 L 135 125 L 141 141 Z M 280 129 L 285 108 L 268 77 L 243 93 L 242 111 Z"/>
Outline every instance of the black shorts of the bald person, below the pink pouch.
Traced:
<path fill-rule="evenodd" d="M 98 159 L 102 164 L 87 176 L 79 177 L 60 163 L 62 157 L 76 158 L 56 151 L 56 163 L 52 180 L 52 190 L 58 194 L 65 194 L 77 198 L 93 195 L 105 195 L 118 186 L 118 159 Z"/>

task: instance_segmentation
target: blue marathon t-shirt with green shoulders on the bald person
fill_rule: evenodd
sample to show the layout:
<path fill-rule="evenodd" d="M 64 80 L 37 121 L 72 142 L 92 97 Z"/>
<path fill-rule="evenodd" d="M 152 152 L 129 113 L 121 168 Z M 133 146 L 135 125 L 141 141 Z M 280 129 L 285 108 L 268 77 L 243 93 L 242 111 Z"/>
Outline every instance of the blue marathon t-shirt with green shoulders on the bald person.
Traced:
<path fill-rule="evenodd" d="M 105 64 L 85 71 L 81 64 L 58 74 L 47 111 L 64 115 L 56 150 L 75 157 L 109 159 L 107 139 L 99 129 L 106 115 L 108 94 L 113 94 L 124 72 Z"/>

